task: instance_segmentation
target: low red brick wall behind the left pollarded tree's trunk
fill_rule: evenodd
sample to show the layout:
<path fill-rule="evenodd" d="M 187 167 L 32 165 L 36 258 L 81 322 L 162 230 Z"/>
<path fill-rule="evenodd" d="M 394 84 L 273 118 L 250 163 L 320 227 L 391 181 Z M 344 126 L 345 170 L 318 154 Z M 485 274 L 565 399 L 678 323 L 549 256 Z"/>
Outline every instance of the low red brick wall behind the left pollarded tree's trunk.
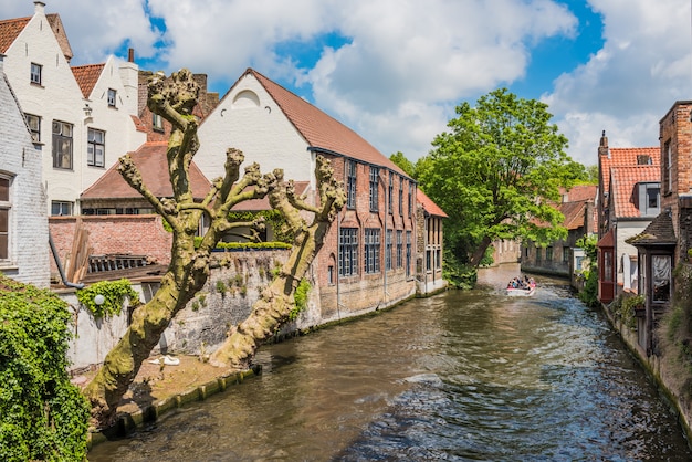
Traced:
<path fill-rule="evenodd" d="M 149 262 L 170 262 L 172 234 L 164 230 L 159 216 L 50 217 L 49 227 L 63 265 L 72 251 L 77 223 L 88 231 L 88 246 L 94 255 L 132 253 L 147 255 Z M 51 259 L 51 273 L 56 272 Z"/>

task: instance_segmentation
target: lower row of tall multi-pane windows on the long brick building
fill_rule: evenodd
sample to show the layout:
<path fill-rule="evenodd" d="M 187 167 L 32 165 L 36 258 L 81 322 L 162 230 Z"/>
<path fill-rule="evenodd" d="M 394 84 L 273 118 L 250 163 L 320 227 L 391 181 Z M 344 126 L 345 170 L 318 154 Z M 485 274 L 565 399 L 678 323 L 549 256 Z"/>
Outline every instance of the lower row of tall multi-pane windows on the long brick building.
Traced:
<path fill-rule="evenodd" d="M 364 259 L 363 269 L 366 274 L 380 272 L 380 233 L 378 228 L 366 228 L 364 230 Z M 411 274 L 411 231 L 406 231 L 406 274 Z M 403 231 L 396 230 L 396 254 L 395 231 L 387 230 L 385 241 L 385 269 L 387 271 L 396 267 L 400 269 L 405 264 L 403 254 Z M 338 237 L 338 274 L 340 277 L 354 276 L 358 274 L 358 229 L 342 228 Z"/>

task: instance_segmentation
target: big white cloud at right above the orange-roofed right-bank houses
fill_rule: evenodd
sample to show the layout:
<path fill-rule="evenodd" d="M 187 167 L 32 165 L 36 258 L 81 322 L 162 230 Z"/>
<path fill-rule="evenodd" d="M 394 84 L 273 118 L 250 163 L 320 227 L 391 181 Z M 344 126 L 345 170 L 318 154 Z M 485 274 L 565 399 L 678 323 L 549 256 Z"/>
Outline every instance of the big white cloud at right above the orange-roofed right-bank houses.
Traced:
<path fill-rule="evenodd" d="M 570 139 L 569 154 L 596 164 L 606 130 L 611 147 L 659 145 L 659 120 L 692 83 L 690 2 L 591 0 L 604 15 L 605 44 L 544 95 Z"/>

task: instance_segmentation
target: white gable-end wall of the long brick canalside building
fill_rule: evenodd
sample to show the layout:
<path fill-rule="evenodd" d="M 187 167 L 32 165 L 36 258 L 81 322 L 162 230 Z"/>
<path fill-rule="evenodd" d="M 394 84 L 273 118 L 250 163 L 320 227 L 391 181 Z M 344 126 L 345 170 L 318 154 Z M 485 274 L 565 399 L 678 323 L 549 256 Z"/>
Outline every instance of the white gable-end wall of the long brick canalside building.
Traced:
<path fill-rule="evenodd" d="M 223 176 L 226 151 L 233 147 L 245 155 L 244 165 L 258 162 L 262 172 L 282 168 L 284 178 L 310 181 L 314 190 L 314 154 L 253 75 L 245 74 L 223 96 L 200 125 L 198 136 L 195 164 L 209 180 Z"/>

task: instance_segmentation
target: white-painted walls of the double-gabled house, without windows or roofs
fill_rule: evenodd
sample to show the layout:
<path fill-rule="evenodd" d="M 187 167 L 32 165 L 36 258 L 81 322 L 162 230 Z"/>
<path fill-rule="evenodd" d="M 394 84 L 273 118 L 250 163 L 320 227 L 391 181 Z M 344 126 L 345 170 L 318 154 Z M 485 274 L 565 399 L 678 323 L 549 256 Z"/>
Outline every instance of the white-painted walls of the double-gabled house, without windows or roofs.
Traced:
<path fill-rule="evenodd" d="M 40 83 L 32 82 L 32 64 L 41 66 Z M 44 6 L 35 2 L 34 15 L 7 50 L 4 71 L 22 111 L 40 117 L 40 143 L 43 147 L 43 183 L 48 210 L 60 201 L 72 204 L 78 213 L 82 191 L 94 183 L 122 155 L 146 140 L 130 115 L 137 114 L 137 66 L 111 56 L 88 97 L 82 91 L 70 63 L 45 17 Z M 125 84 L 124 84 L 125 80 Z M 127 85 L 126 85 L 127 84 Z M 116 92 L 115 106 L 108 105 L 108 88 Z M 92 114 L 85 116 L 88 104 Z M 54 167 L 54 122 L 72 127 L 72 165 Z M 105 132 L 104 166 L 87 166 L 88 128 Z"/>

